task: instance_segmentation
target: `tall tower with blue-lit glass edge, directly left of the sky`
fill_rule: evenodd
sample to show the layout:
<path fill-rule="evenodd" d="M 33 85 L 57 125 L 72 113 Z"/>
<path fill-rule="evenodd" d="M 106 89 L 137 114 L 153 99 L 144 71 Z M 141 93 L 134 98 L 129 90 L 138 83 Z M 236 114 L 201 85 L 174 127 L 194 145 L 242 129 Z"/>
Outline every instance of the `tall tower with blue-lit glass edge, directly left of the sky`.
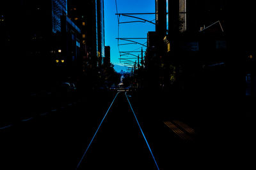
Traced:
<path fill-rule="evenodd" d="M 104 57 L 104 1 L 68 1 L 68 17 L 81 29 L 87 64 L 102 64 Z"/>

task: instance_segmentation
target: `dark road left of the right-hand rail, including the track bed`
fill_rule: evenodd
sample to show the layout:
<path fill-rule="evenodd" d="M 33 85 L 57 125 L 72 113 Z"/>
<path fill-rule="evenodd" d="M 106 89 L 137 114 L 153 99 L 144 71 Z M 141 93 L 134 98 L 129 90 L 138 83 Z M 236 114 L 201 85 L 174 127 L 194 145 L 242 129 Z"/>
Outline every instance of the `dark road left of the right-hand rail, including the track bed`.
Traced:
<path fill-rule="evenodd" d="M 98 95 L 1 129 L 1 169 L 158 169 L 125 92 Z"/>

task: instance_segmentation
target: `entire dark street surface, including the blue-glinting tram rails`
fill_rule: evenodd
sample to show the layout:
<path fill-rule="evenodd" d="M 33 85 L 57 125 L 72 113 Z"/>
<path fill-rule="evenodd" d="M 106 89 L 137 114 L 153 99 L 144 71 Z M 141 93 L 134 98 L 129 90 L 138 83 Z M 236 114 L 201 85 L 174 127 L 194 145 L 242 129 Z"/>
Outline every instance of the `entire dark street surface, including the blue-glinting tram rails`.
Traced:
<path fill-rule="evenodd" d="M 252 163 L 252 124 L 238 131 L 244 127 L 230 124 L 221 100 L 214 108 L 194 97 L 174 98 L 100 92 L 22 119 L 0 129 L 0 169 L 230 169 L 239 162 L 246 169 Z M 241 148 L 246 161 L 235 156 L 236 162 Z"/>

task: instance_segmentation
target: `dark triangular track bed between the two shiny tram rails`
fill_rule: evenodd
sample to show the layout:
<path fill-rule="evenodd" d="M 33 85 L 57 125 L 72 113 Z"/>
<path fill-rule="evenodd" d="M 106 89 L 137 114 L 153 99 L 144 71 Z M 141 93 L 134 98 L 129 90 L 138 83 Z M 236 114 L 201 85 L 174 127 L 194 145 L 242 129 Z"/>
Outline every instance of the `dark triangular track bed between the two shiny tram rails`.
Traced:
<path fill-rule="evenodd" d="M 157 169 L 124 92 L 117 94 L 78 169 Z"/>

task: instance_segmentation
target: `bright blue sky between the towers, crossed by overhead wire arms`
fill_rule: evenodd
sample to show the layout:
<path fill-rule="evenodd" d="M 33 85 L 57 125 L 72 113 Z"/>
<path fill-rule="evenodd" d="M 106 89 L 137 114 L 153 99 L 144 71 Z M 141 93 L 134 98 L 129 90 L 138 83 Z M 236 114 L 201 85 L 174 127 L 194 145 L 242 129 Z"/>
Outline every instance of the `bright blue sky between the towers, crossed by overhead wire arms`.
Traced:
<path fill-rule="evenodd" d="M 155 0 L 116 0 L 118 13 L 154 13 Z M 111 47 L 111 63 L 123 65 L 120 62 L 118 52 L 118 20 L 116 13 L 115 0 L 104 1 L 105 13 L 105 45 Z M 135 17 L 144 18 L 155 22 L 155 15 L 133 15 Z M 134 21 L 136 18 L 120 17 L 120 22 Z M 147 38 L 148 31 L 155 31 L 155 25 L 148 22 L 134 22 L 130 24 L 119 24 L 119 38 Z M 147 39 L 131 39 L 147 45 Z M 129 43 L 128 41 L 119 40 L 119 44 Z M 141 50 L 141 45 L 121 45 L 120 51 L 134 51 Z M 143 50 L 146 47 L 143 46 Z M 134 53 L 138 55 L 138 53 Z M 122 56 L 122 57 L 132 57 Z M 135 60 L 135 59 L 132 59 Z M 123 60 L 124 61 L 124 60 Z"/>

